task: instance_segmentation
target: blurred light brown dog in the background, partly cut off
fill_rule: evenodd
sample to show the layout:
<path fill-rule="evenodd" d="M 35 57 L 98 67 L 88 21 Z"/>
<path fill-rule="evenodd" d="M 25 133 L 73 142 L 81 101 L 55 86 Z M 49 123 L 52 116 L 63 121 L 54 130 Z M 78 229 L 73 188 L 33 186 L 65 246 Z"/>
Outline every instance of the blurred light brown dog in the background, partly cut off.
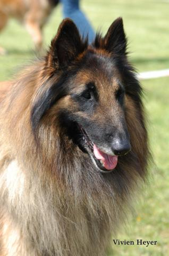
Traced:
<path fill-rule="evenodd" d="M 10 17 L 21 21 L 31 35 L 37 50 L 43 44 L 42 29 L 58 0 L 0 0 L 0 31 Z M 0 54 L 5 50 L 0 47 Z"/>

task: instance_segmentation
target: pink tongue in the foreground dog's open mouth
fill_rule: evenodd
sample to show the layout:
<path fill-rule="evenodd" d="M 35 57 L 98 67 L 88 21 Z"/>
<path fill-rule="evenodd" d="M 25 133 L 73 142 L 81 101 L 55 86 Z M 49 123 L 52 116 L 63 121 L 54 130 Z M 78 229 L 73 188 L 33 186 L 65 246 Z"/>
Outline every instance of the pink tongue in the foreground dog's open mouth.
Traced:
<path fill-rule="evenodd" d="M 102 160 L 103 165 L 107 170 L 113 170 L 117 165 L 117 156 L 111 156 L 103 153 L 95 144 L 94 155 L 97 159 Z"/>

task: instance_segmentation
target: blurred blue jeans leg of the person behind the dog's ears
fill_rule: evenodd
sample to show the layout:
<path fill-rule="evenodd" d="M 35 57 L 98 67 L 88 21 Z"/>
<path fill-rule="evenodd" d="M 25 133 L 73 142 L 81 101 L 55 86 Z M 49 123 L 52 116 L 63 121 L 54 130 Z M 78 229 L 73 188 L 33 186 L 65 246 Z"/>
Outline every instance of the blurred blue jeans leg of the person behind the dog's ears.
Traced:
<path fill-rule="evenodd" d="M 70 18 L 77 25 L 80 34 L 83 37 L 88 35 L 89 43 L 94 41 L 95 32 L 91 27 L 85 14 L 79 9 L 79 0 L 60 0 L 63 5 L 63 16 L 64 18 Z"/>

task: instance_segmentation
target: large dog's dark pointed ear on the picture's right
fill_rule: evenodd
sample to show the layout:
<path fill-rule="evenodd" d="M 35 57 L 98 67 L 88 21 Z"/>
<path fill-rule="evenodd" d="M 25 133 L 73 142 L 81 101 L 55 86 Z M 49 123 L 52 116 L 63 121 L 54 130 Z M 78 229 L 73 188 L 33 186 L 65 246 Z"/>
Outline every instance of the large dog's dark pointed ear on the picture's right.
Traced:
<path fill-rule="evenodd" d="M 104 37 L 105 49 L 119 55 L 126 54 L 127 40 L 123 29 L 122 18 L 117 18 L 109 27 Z"/>

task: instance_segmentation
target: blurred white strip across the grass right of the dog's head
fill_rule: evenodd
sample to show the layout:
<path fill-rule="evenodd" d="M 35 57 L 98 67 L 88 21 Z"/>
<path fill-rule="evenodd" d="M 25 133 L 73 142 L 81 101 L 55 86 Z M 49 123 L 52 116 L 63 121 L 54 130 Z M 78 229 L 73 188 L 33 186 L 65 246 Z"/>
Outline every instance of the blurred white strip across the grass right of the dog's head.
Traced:
<path fill-rule="evenodd" d="M 139 79 L 151 79 L 164 76 L 169 76 L 169 69 L 147 71 L 138 74 Z"/>

